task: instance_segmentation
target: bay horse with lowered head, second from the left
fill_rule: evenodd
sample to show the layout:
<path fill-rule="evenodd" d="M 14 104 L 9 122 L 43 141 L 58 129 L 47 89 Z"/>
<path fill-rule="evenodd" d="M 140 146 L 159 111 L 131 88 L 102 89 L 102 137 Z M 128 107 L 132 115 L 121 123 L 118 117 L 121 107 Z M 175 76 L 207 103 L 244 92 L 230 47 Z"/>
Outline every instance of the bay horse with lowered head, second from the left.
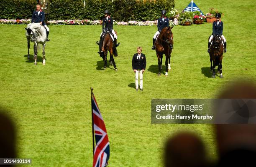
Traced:
<path fill-rule="evenodd" d="M 115 31 L 115 34 L 117 35 L 117 32 Z M 113 55 L 116 57 L 118 56 L 118 52 L 116 50 L 115 44 L 110 36 L 110 32 L 107 31 L 105 34 L 102 35 L 102 39 L 100 41 L 100 57 L 103 58 L 104 61 L 104 70 L 106 70 L 107 67 L 107 55 L 108 51 L 110 53 L 110 65 L 113 65 L 115 70 L 117 71 L 115 60 Z"/>

